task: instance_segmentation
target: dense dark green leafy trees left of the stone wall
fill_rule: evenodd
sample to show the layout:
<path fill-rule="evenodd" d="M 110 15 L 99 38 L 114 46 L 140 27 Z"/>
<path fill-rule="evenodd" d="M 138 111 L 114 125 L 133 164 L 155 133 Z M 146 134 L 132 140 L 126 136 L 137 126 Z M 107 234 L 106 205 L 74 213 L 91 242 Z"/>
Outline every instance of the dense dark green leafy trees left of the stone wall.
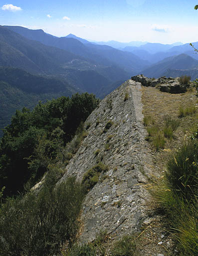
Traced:
<path fill-rule="evenodd" d="M 33 185 L 38 181 L 98 103 L 93 94 L 76 93 L 71 98 L 39 102 L 32 111 L 25 107 L 16 110 L 0 140 L 0 187 L 5 186 L 4 195 L 14 195 L 27 182 Z"/>

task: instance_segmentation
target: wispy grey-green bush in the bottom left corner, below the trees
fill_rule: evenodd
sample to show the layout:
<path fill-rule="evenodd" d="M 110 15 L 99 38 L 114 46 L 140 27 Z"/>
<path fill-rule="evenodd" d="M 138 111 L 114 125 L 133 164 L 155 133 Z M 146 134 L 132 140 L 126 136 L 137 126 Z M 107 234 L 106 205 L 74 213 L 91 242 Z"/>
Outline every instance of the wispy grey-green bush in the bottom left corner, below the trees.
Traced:
<path fill-rule="evenodd" d="M 54 181 L 51 173 L 38 194 L 7 198 L 1 205 L 0 255 L 52 255 L 74 240 L 84 188 L 74 178 L 56 187 Z"/>

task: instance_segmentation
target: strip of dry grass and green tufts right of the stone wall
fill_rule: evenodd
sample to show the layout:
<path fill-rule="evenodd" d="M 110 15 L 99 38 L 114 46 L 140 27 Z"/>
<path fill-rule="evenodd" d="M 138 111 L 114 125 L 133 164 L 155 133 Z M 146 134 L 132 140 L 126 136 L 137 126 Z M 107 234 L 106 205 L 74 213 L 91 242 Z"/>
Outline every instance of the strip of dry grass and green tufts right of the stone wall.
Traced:
<path fill-rule="evenodd" d="M 155 135 L 151 119 L 155 120 L 155 125 L 166 138 L 166 148 L 156 152 L 153 165 L 155 171 L 163 170 L 161 178 L 153 178 L 159 210 L 164 213 L 162 228 L 171 233 L 178 255 L 198 255 L 198 115 L 194 107 L 197 103 L 195 88 L 186 93 L 169 94 L 144 87 L 143 103 L 145 117 L 150 116 L 145 125 L 147 129 L 149 127 L 148 140 L 152 143 Z M 178 118 L 179 115 L 184 118 Z M 172 255 L 171 251 L 169 253 Z"/>

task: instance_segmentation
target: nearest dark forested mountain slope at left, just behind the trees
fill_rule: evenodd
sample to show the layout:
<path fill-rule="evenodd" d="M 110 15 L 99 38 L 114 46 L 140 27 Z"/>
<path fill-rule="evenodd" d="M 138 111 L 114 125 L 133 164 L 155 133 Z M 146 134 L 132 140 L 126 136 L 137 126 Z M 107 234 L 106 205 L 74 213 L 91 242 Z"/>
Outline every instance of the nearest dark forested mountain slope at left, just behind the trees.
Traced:
<path fill-rule="evenodd" d="M 0 66 L 0 136 L 16 109 L 32 109 L 39 100 L 71 96 L 76 90 L 56 77 L 43 77 L 23 69 Z"/>

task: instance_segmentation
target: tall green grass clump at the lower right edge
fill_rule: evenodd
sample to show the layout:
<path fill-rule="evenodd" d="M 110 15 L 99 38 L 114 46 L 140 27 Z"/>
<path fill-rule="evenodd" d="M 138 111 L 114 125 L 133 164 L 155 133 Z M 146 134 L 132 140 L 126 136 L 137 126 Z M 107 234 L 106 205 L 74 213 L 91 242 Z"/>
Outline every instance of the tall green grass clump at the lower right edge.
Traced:
<path fill-rule="evenodd" d="M 157 198 L 175 233 L 180 255 L 198 255 L 198 140 L 186 142 L 169 158 Z"/>

